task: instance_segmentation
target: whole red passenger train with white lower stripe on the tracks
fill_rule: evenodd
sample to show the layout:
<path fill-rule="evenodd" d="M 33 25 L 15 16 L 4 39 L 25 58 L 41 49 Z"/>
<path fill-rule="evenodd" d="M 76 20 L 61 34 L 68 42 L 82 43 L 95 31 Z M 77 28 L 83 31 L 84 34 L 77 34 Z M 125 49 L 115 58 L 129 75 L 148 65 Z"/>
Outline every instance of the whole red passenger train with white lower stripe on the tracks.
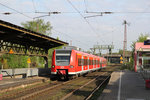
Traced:
<path fill-rule="evenodd" d="M 51 74 L 64 78 L 106 67 L 106 59 L 77 50 L 56 49 L 53 52 Z"/>

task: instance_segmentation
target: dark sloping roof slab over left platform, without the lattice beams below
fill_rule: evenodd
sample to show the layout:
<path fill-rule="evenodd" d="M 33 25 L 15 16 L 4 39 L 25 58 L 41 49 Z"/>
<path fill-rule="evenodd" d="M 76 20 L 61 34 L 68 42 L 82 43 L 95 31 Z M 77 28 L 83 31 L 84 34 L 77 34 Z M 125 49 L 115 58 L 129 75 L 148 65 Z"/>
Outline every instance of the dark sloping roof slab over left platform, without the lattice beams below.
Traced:
<path fill-rule="evenodd" d="M 0 40 L 24 46 L 50 49 L 68 43 L 0 20 Z"/>

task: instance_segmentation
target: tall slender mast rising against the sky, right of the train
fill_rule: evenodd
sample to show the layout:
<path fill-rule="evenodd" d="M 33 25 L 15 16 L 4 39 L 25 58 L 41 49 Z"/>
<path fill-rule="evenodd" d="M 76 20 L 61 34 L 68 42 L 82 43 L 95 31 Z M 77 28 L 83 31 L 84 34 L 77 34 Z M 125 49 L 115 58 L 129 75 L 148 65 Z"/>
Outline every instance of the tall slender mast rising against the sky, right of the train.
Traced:
<path fill-rule="evenodd" d="M 127 23 L 126 20 L 123 22 L 124 25 L 124 41 L 123 41 L 123 63 L 125 63 L 125 56 L 126 56 L 126 50 L 127 50 Z"/>

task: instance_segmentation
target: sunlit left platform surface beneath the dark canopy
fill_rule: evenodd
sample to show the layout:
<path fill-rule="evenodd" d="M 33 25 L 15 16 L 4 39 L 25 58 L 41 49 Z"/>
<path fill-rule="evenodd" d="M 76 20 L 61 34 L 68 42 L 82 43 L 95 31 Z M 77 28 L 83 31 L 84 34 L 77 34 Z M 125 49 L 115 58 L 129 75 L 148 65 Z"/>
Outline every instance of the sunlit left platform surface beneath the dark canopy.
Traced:
<path fill-rule="evenodd" d="M 3 78 L 0 80 L 0 92 L 7 91 L 17 87 L 25 87 L 27 85 L 44 82 L 49 80 L 49 78 L 45 77 L 30 77 L 30 78 Z"/>

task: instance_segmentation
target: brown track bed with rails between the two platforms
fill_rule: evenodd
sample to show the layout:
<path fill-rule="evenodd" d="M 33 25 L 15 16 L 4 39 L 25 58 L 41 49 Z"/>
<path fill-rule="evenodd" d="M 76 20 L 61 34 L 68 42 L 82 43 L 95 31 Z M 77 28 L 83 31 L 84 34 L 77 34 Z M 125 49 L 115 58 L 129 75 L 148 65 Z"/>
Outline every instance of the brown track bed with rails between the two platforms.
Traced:
<path fill-rule="evenodd" d="M 43 100 L 70 100 L 72 98 L 88 100 L 98 88 L 109 80 L 112 70 L 114 69 L 104 69 L 66 82 L 53 81 L 20 91 L 13 91 L 0 95 L 0 100 L 41 100 L 41 98 Z M 88 87 L 91 88 L 88 89 Z M 85 90 L 88 90 L 86 95 L 81 93 L 81 96 L 79 96 L 80 92 L 86 92 Z"/>

